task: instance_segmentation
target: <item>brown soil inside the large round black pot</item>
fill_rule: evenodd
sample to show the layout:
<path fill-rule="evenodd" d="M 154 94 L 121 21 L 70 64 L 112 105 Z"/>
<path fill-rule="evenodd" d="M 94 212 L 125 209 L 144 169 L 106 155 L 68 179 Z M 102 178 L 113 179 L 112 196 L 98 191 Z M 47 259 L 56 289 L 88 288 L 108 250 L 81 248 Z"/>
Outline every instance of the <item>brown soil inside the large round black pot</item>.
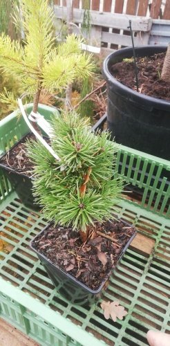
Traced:
<path fill-rule="evenodd" d="M 160 80 L 165 53 L 151 57 L 137 57 L 139 92 L 145 95 L 170 101 L 170 81 Z M 111 67 L 113 76 L 125 86 L 136 91 L 133 58 L 124 59 Z"/>

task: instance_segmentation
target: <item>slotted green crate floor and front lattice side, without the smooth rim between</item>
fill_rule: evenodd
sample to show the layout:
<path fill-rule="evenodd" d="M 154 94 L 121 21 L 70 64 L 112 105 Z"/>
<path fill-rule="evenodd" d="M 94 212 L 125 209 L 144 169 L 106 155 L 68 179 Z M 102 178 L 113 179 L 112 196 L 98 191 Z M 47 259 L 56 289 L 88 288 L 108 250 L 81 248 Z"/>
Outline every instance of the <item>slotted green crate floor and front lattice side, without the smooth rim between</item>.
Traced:
<path fill-rule="evenodd" d="M 162 217 L 155 221 L 149 212 L 148 215 L 147 212 L 141 215 L 139 208 L 134 210 L 133 207 L 130 210 L 128 202 L 119 207 L 118 216 L 133 222 L 145 235 L 155 240 L 155 247 L 149 257 L 131 249 L 126 251 L 104 293 L 108 300 L 118 299 L 128 310 L 123 321 L 117 320 L 114 323 L 110 319 L 105 320 L 100 302 L 91 307 L 79 307 L 68 303 L 57 293 L 43 266 L 28 246 L 30 239 L 44 228 L 46 221 L 38 212 L 32 212 L 23 206 L 15 193 L 12 193 L 9 202 L 6 199 L 6 208 L 3 203 L 1 210 L 1 239 L 8 242 L 8 253 L 0 254 L 1 277 L 39 299 L 50 309 L 58 311 L 75 325 L 94 334 L 95 338 L 103 340 L 106 345 L 143 346 L 147 345 L 145 336 L 149 328 L 170 333 L 170 225 Z M 14 304 L 10 307 L 4 294 L 0 300 L 1 317 L 12 324 L 15 321 L 17 327 L 28 332 L 41 345 L 55 345 L 55 333 L 58 336 L 59 331 L 55 331 L 48 323 L 45 329 L 44 325 L 43 328 L 39 326 L 39 318 L 31 313 L 31 307 L 30 311 L 23 311 L 23 316 L 29 321 L 26 330 L 19 307 L 17 309 L 20 312 L 16 313 L 16 306 L 15 309 Z M 70 340 L 61 335 L 61 345 L 79 345 L 75 341 L 76 336 L 75 340 Z M 86 340 L 82 345 L 87 345 Z"/>

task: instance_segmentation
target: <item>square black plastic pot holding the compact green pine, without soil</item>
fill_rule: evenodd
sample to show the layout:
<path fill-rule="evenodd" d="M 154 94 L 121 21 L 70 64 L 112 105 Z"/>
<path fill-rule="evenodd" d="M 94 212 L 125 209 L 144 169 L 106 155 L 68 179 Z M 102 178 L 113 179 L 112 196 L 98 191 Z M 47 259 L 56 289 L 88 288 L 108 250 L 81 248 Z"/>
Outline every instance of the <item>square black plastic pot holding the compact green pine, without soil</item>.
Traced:
<path fill-rule="evenodd" d="M 124 222 L 123 220 L 121 221 Z M 124 224 L 131 226 L 127 224 L 126 222 L 124 222 Z M 48 226 L 46 226 L 46 228 L 48 228 Z M 30 248 L 32 248 L 32 250 L 35 251 L 35 253 L 37 253 L 37 256 L 39 257 L 41 264 L 44 265 L 44 268 L 46 269 L 46 272 L 48 273 L 48 276 L 50 277 L 50 279 L 53 281 L 53 284 L 55 285 L 57 291 L 61 295 L 63 295 L 64 298 L 66 298 L 67 300 L 69 300 L 69 302 L 72 302 L 73 304 L 83 305 L 83 304 L 91 304 L 95 302 L 95 300 L 101 297 L 102 291 L 106 289 L 111 273 L 108 275 L 107 279 L 104 282 L 102 282 L 99 289 L 92 290 L 92 289 L 89 289 L 82 282 L 79 282 L 79 280 L 77 280 L 75 277 L 73 277 L 69 273 L 66 273 L 61 268 L 55 266 L 52 262 L 50 262 L 50 260 L 48 260 L 47 257 L 45 257 L 44 255 L 41 255 L 41 253 L 39 253 L 37 249 L 35 249 L 34 247 L 34 242 L 36 238 L 39 237 L 41 233 L 44 233 L 44 231 L 46 231 L 46 228 L 44 228 L 44 230 L 41 230 L 41 232 L 34 239 L 32 239 L 32 241 L 30 242 Z M 124 255 L 126 249 L 131 244 L 131 241 L 133 240 L 135 235 L 136 235 L 136 231 L 134 229 L 134 233 L 131 236 L 131 238 L 129 238 L 129 241 L 126 243 L 126 245 L 122 249 L 122 252 L 120 253 L 120 257 L 118 261 L 120 261 L 120 259 Z"/>

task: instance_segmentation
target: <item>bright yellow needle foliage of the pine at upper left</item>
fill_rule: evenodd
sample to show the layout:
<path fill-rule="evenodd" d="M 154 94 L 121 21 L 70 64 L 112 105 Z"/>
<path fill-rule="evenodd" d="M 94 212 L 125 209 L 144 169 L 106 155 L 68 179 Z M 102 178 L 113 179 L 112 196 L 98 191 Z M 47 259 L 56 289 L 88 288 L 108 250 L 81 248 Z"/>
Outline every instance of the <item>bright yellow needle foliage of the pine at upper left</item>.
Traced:
<path fill-rule="evenodd" d="M 94 66 L 91 55 L 81 50 L 82 39 L 70 35 L 66 42 L 56 47 L 54 13 L 48 0 L 21 0 L 19 4 L 25 43 L 12 41 L 4 33 L 0 35 L 0 69 L 19 82 L 21 94 L 33 97 L 43 89 L 57 93 L 76 78 L 86 78 L 91 74 Z M 11 98 L 12 95 L 9 104 Z M 33 109 L 37 111 L 37 104 Z"/>

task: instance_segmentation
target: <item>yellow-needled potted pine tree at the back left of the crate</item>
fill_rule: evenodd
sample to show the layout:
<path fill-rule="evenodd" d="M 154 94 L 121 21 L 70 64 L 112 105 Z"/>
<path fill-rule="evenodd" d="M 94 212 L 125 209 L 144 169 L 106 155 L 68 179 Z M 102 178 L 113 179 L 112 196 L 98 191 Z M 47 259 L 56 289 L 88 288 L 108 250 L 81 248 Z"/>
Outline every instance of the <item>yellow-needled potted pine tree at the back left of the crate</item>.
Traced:
<path fill-rule="evenodd" d="M 82 40 L 75 35 L 69 35 L 62 44 L 56 43 L 53 32 L 54 14 L 52 8 L 48 6 L 48 0 L 21 0 L 19 4 L 25 41 L 21 44 L 19 41 L 12 41 L 8 35 L 1 34 L 0 66 L 8 78 L 17 80 L 18 95 L 26 97 L 28 102 L 33 102 L 32 125 L 39 131 L 34 120 L 38 107 L 40 112 L 41 110 L 44 112 L 44 107 L 39 106 L 39 99 L 44 92 L 50 95 L 56 94 L 64 91 L 75 79 L 86 78 L 93 71 L 93 63 L 91 55 L 86 55 L 81 49 Z M 18 19 L 16 21 L 18 22 Z M 1 93 L 1 102 L 9 104 L 11 110 L 18 107 L 16 98 L 8 91 Z M 30 111 L 30 107 L 28 108 Z M 49 118 L 54 109 L 46 110 Z M 17 117 L 15 119 L 17 126 Z M 10 173 L 10 180 L 12 185 L 15 185 L 19 197 L 31 206 L 32 183 L 27 176 L 32 172 L 24 148 L 19 144 L 3 157 L 3 154 L 6 154 L 4 148 L 6 149 L 6 144 L 2 148 L 1 167 Z M 27 188 L 24 188 L 26 183 Z"/>

